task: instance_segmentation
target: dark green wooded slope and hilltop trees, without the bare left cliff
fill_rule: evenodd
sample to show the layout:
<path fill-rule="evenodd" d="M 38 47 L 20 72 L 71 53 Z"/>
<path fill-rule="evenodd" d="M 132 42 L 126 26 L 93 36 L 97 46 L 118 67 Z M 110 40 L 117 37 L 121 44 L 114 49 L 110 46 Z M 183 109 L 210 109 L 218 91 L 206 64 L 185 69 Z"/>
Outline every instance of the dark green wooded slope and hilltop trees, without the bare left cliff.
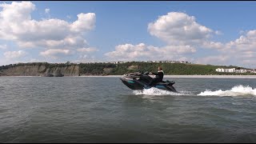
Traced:
<path fill-rule="evenodd" d="M 217 68 L 236 68 L 238 66 L 214 66 L 214 65 L 200 65 L 189 63 L 168 63 L 168 62 L 125 62 L 125 63 L 48 63 L 48 62 L 30 62 L 17 63 L 7 66 L 0 66 L 2 70 L 9 69 L 15 66 L 46 66 L 46 68 L 65 67 L 65 66 L 79 66 L 79 75 L 122 75 L 134 72 L 156 72 L 158 66 L 162 66 L 165 74 L 170 75 L 209 75 L 209 74 L 238 74 L 238 73 L 219 73 Z M 240 75 L 241 73 L 239 73 Z M 242 73 L 248 75 L 251 73 Z"/>

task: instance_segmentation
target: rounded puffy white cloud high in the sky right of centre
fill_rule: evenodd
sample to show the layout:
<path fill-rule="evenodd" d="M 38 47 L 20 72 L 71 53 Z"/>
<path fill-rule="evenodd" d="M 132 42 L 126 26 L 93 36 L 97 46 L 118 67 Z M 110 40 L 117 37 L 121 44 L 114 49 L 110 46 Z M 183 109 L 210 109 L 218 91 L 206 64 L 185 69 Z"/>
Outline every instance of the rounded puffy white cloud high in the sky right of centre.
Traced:
<path fill-rule="evenodd" d="M 148 30 L 151 35 L 169 45 L 200 44 L 210 38 L 214 31 L 198 24 L 195 20 L 194 16 L 185 13 L 170 12 L 160 16 L 155 22 L 150 22 Z"/>

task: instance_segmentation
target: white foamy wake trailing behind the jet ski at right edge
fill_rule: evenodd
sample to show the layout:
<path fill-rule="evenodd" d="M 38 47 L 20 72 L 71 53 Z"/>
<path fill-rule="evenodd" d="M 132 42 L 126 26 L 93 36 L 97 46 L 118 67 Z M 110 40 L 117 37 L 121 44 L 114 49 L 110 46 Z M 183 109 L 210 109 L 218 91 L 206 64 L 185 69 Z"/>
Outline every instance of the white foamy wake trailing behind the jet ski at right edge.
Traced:
<path fill-rule="evenodd" d="M 206 95 L 215 95 L 215 96 L 242 96 L 242 95 L 256 95 L 256 89 L 253 89 L 250 86 L 234 86 L 231 90 L 206 90 L 201 92 L 198 95 L 206 96 Z"/>

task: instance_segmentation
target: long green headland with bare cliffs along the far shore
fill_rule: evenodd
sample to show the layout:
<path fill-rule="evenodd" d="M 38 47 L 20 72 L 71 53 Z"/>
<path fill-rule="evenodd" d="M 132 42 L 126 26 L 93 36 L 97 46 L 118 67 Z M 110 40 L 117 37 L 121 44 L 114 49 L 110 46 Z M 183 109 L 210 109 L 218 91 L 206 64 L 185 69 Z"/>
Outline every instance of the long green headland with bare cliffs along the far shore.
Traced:
<path fill-rule="evenodd" d="M 210 74 L 241 74 L 241 73 L 219 73 L 217 68 L 236 68 L 238 66 L 213 66 L 189 63 L 168 63 L 168 62 L 126 62 L 126 63 L 47 63 L 31 62 L 18 63 L 7 66 L 0 66 L 0 75 L 31 75 L 56 73 L 64 75 L 122 75 L 133 72 L 156 72 L 158 66 L 162 66 L 165 74 L 170 75 L 210 75 Z M 245 68 L 241 68 L 245 69 Z M 243 73 L 243 75 L 252 73 Z"/>

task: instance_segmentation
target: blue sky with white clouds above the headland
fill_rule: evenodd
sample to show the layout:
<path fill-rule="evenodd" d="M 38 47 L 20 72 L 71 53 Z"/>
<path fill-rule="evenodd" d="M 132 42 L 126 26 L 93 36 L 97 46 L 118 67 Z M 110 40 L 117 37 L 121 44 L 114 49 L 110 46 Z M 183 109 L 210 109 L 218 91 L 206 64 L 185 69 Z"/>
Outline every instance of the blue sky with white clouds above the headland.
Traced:
<path fill-rule="evenodd" d="M 187 61 L 256 68 L 256 2 L 1 1 L 0 66 Z"/>

